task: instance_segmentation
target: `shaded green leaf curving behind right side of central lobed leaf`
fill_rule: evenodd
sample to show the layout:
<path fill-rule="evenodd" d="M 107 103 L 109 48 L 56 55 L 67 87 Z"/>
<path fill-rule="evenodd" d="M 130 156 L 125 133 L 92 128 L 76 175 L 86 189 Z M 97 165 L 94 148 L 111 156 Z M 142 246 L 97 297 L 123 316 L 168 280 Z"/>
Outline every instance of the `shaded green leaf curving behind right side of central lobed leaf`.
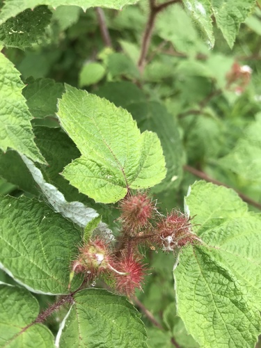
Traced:
<path fill-rule="evenodd" d="M 167 174 L 152 191 L 175 189 L 182 179 L 183 150 L 177 122 L 166 108 L 157 102 L 134 103 L 127 106 L 141 131 L 157 132 L 166 159 Z"/>

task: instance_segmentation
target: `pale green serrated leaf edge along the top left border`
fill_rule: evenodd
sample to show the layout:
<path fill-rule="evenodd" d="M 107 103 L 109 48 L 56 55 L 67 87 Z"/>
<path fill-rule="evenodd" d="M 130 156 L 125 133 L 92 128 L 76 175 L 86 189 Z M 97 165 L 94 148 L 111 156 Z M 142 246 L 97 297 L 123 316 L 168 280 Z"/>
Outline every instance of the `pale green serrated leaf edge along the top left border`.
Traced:
<path fill-rule="evenodd" d="M 39 5 L 47 5 L 57 8 L 62 5 L 79 6 L 84 11 L 90 7 L 101 6 L 104 8 L 122 9 L 125 5 L 132 5 L 138 0 L 6 0 L 0 13 L 0 24 L 10 17 L 15 17 L 26 8 L 35 8 Z"/>

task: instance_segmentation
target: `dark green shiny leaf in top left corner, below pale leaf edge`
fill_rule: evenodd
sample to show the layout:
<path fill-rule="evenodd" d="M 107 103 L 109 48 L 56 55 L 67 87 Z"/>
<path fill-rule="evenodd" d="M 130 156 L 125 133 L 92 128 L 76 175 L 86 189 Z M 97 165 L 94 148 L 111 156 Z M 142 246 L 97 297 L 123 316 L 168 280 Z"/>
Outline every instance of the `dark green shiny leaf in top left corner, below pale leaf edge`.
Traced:
<path fill-rule="evenodd" d="M 0 26 L 0 41 L 7 47 L 31 47 L 45 35 L 51 17 L 52 12 L 47 6 L 39 6 L 33 11 L 25 10 Z"/>

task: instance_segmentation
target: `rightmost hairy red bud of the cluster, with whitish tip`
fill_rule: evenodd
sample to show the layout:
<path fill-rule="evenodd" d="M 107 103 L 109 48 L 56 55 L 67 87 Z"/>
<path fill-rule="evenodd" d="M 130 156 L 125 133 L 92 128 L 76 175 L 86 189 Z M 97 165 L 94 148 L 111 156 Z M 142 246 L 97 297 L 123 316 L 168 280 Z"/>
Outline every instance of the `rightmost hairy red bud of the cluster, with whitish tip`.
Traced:
<path fill-rule="evenodd" d="M 171 212 L 157 224 L 155 242 L 163 251 L 174 251 L 195 240 L 199 239 L 191 232 L 189 217 L 180 211 Z"/>

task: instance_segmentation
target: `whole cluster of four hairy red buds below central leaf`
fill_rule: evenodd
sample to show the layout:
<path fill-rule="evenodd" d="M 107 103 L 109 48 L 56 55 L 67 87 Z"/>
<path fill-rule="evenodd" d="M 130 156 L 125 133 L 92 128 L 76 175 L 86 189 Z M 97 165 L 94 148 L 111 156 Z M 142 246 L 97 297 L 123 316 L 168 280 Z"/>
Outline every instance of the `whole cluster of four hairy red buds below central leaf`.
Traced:
<path fill-rule="evenodd" d="M 95 237 L 81 246 L 72 264 L 70 282 L 74 273 L 83 273 L 87 282 L 101 276 L 118 293 L 132 296 L 135 289 L 141 290 L 146 271 L 139 252 L 141 244 L 145 242 L 152 250 L 158 246 L 163 251 L 175 251 L 200 239 L 191 232 L 187 215 L 173 210 L 162 216 L 145 193 L 128 193 L 119 208 L 122 229 L 118 239 L 108 242 Z"/>

